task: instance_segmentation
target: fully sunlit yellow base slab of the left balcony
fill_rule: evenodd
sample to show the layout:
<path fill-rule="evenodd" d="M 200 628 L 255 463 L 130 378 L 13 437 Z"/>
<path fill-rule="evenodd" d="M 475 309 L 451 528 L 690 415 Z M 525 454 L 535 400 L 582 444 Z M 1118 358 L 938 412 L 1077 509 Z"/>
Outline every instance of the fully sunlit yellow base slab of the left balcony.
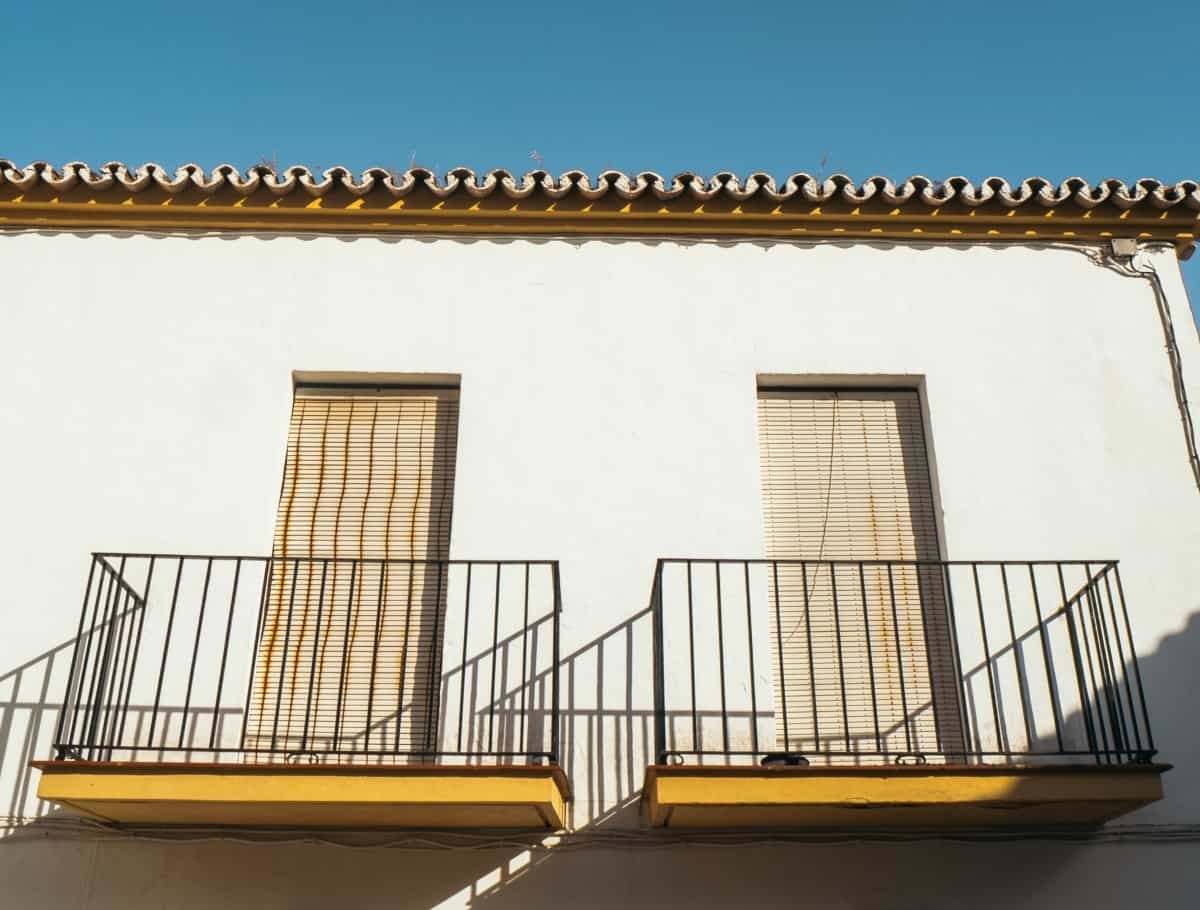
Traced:
<path fill-rule="evenodd" d="M 40 761 L 37 795 L 127 825 L 560 828 L 557 766 Z"/>

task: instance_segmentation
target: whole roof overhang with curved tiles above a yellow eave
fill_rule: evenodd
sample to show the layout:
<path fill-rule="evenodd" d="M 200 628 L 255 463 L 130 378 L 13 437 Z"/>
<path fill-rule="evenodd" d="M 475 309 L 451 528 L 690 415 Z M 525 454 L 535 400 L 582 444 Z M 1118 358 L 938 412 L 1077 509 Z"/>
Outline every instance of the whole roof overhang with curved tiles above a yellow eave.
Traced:
<path fill-rule="evenodd" d="M 1200 237 L 1200 184 L 1038 178 L 911 178 L 893 184 L 844 175 L 680 174 L 590 178 L 568 172 L 512 176 L 466 169 L 440 178 L 344 168 L 245 174 L 188 164 L 94 170 L 0 160 L 0 229 L 220 231 L 246 233 L 564 235 L 907 241 L 1171 243 L 1182 253 Z"/>

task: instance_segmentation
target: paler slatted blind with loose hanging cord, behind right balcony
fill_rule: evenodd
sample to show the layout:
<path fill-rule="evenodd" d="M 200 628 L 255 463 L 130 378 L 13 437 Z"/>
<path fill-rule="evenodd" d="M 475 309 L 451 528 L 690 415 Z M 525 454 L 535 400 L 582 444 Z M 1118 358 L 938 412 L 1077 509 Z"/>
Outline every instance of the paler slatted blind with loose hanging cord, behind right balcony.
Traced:
<path fill-rule="evenodd" d="M 938 558 L 916 391 L 763 389 L 758 436 L 770 558 Z M 937 567 L 779 565 L 768 589 L 778 749 L 962 750 Z"/>

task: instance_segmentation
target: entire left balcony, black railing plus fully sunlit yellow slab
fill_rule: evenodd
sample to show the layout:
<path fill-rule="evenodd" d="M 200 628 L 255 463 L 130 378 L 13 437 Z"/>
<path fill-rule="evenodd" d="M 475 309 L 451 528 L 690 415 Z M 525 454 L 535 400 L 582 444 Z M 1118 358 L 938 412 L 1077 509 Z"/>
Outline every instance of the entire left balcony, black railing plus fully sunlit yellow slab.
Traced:
<path fill-rule="evenodd" d="M 101 553 L 38 796 L 134 825 L 559 828 L 558 564 Z"/>

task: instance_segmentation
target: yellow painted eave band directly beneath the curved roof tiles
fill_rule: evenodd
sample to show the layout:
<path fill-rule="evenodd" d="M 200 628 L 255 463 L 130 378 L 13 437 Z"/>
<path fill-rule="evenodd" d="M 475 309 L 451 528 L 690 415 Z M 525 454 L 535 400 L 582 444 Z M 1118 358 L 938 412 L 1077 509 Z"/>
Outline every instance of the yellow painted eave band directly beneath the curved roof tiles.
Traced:
<path fill-rule="evenodd" d="M 864 238 L 917 240 L 1097 241 L 1111 237 L 1169 241 L 1200 237 L 1200 212 L 905 206 L 803 206 L 686 203 L 568 205 L 530 198 L 504 205 L 478 200 L 366 199 L 326 196 L 299 204 L 217 193 L 167 196 L 65 192 L 0 193 L 0 228 L 46 231 L 222 231 L 330 234 L 562 234 Z M 1052 217 L 1050 217 L 1052 215 Z"/>

